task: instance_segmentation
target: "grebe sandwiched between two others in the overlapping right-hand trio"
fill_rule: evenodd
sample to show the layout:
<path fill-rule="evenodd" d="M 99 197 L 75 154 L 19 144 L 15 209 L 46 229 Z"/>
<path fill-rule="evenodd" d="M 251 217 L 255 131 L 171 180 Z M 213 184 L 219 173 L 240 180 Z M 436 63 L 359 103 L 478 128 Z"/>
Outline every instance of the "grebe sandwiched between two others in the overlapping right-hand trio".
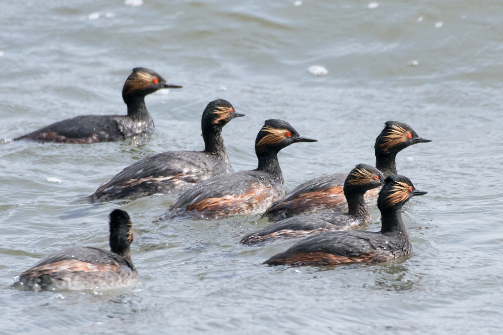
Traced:
<path fill-rule="evenodd" d="M 248 234 L 241 243 L 257 244 L 278 239 L 312 236 L 325 231 L 355 229 L 372 219 L 363 195 L 384 184 L 384 176 L 374 166 L 358 164 L 344 182 L 347 213 L 303 214 L 275 222 Z"/>

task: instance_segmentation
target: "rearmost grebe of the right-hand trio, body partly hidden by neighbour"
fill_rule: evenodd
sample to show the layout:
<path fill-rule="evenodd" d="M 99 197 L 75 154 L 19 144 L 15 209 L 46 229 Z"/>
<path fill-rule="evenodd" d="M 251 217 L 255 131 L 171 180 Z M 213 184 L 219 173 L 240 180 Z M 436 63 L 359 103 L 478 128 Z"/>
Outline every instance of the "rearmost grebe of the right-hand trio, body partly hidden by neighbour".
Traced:
<path fill-rule="evenodd" d="M 398 121 L 387 121 L 375 142 L 376 167 L 384 177 L 396 174 L 395 157 L 406 147 L 431 142 L 417 136 L 408 125 Z M 262 217 L 278 221 L 298 214 L 330 211 L 344 208 L 346 199 L 343 194 L 345 174 L 333 174 L 311 179 L 297 186 L 283 199 L 269 207 Z M 375 198 L 379 189 L 367 192 L 366 198 Z"/>

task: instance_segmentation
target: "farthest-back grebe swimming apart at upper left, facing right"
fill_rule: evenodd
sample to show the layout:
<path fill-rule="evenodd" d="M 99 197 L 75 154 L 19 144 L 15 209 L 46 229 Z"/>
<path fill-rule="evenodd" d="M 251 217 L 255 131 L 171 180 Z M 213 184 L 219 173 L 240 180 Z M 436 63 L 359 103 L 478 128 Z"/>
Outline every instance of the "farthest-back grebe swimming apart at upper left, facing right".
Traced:
<path fill-rule="evenodd" d="M 141 133 L 150 133 L 154 122 L 145 106 L 145 96 L 160 89 L 179 89 L 157 72 L 144 67 L 133 68 L 122 89 L 127 115 L 82 115 L 48 125 L 15 138 L 39 142 L 87 144 L 120 141 Z"/>

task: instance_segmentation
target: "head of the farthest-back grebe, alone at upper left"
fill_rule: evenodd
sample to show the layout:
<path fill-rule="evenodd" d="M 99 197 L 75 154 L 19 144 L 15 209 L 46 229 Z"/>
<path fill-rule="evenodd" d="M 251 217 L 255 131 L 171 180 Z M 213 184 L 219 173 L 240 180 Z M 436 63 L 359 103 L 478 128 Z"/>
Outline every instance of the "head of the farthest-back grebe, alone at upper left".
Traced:
<path fill-rule="evenodd" d="M 180 89 L 183 86 L 171 85 L 154 70 L 145 67 L 135 67 L 124 82 L 122 99 L 125 103 L 135 96 L 144 97 L 160 89 Z"/>

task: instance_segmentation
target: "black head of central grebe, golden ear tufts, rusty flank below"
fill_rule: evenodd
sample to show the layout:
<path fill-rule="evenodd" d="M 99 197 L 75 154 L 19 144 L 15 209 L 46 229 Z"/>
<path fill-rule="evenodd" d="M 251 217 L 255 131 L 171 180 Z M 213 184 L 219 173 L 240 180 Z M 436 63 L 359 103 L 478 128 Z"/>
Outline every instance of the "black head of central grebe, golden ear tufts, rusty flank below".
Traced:
<path fill-rule="evenodd" d="M 271 119 L 266 120 L 255 140 L 255 152 L 262 156 L 267 152 L 278 153 L 281 149 L 296 142 L 317 142 L 318 140 L 302 137 L 286 121 Z"/>

